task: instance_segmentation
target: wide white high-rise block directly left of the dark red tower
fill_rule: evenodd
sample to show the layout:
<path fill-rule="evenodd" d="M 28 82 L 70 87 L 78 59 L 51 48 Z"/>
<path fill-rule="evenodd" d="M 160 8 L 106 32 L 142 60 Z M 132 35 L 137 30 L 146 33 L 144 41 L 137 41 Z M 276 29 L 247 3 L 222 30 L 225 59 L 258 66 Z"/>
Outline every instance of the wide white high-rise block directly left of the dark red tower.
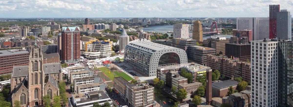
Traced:
<path fill-rule="evenodd" d="M 269 18 L 236 18 L 237 30 L 252 30 L 252 40 L 269 39 Z"/>

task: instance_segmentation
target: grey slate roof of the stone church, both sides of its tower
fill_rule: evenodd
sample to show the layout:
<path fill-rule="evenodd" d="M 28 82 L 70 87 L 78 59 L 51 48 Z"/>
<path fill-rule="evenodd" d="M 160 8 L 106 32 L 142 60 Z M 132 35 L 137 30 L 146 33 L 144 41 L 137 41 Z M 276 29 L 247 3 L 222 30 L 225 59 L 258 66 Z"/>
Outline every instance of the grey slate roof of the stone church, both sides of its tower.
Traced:
<path fill-rule="evenodd" d="M 59 73 L 60 63 L 43 64 L 43 70 L 45 74 Z M 28 75 L 28 65 L 13 67 L 12 77 L 23 77 Z"/>

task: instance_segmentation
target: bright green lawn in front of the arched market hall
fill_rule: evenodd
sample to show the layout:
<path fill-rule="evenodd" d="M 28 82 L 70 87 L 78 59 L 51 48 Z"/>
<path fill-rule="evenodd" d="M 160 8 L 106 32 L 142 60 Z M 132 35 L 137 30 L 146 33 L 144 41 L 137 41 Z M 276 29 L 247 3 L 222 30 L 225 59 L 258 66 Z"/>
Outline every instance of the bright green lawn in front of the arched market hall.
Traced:
<path fill-rule="evenodd" d="M 112 72 L 111 69 L 108 69 L 107 67 L 100 67 L 98 69 L 100 69 L 103 73 L 105 73 L 112 81 L 114 81 L 114 73 L 116 74 L 115 77 L 123 77 L 127 81 L 130 81 L 133 79 L 129 75 L 125 74 L 124 72 L 122 73 L 119 73 L 117 71 Z M 110 74 L 109 74 L 109 70 L 110 70 Z M 100 75 L 100 77 L 102 76 L 103 75 Z"/>

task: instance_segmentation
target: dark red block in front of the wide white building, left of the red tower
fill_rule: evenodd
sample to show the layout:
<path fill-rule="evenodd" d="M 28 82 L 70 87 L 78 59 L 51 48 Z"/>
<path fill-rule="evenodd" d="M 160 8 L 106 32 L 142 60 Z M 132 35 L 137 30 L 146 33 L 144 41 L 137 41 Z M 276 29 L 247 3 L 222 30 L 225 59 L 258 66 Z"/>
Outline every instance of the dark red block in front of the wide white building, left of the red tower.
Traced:
<path fill-rule="evenodd" d="M 233 30 L 233 36 L 238 37 L 238 40 L 242 37 L 247 37 L 249 41 L 252 40 L 252 30 Z"/>

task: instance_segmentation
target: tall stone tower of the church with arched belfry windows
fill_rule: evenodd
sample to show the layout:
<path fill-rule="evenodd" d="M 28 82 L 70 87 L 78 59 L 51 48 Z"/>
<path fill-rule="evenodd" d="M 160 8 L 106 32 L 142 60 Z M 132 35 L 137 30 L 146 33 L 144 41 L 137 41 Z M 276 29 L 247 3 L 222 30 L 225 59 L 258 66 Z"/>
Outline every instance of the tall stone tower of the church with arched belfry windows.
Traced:
<path fill-rule="evenodd" d="M 43 55 L 41 46 L 30 46 L 30 57 L 28 64 L 28 105 L 34 106 L 36 102 L 42 105 L 42 96 L 44 96 L 44 72 Z"/>

